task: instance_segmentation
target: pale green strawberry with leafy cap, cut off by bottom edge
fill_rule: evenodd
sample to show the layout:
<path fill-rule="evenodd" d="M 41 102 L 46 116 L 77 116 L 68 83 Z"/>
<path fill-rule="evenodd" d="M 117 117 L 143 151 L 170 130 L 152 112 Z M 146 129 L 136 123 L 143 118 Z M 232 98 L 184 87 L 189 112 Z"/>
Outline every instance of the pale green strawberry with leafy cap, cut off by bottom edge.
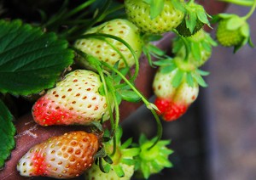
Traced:
<path fill-rule="evenodd" d="M 135 160 L 134 157 L 139 155 L 139 148 L 128 148 L 131 145 L 131 139 L 121 144 L 120 138 L 122 136 L 122 129 L 119 127 L 116 132 L 117 146 L 115 154 L 113 152 L 113 139 L 107 143 L 103 143 L 104 149 L 113 160 L 113 164 L 109 165 L 104 163 L 108 172 L 102 172 L 98 165 L 94 164 L 91 168 L 85 172 L 84 176 L 86 180 L 102 180 L 102 179 L 131 179 L 134 173 Z"/>

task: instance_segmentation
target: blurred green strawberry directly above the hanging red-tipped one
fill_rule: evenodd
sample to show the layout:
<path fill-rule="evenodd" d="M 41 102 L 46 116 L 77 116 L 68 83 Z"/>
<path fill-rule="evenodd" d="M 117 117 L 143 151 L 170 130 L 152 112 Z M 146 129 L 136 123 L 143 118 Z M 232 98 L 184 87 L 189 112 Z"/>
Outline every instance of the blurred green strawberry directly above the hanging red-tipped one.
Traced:
<path fill-rule="evenodd" d="M 173 41 L 172 53 L 176 56 L 184 59 L 186 56 L 185 44 L 187 41 L 189 48 L 189 62 L 196 67 L 204 65 L 212 55 L 212 46 L 217 46 L 217 43 L 212 40 L 209 33 L 204 30 L 200 30 L 195 35 L 187 38 L 177 37 Z"/>

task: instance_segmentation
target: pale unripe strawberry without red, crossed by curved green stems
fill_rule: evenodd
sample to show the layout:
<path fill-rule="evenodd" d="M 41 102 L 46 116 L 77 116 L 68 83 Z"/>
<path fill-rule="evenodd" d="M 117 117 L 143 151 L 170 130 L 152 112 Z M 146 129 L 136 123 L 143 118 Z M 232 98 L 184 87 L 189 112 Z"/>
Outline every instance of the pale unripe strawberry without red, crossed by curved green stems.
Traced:
<path fill-rule="evenodd" d="M 90 33 L 104 33 L 119 37 L 133 48 L 137 58 L 139 58 L 142 53 L 143 42 L 139 35 L 138 28 L 129 20 L 110 20 L 102 25 L 91 28 L 84 34 Z M 135 59 L 125 44 L 112 38 L 89 37 L 79 39 L 74 43 L 74 47 L 84 53 L 88 53 L 104 62 L 107 62 L 109 65 L 115 65 L 116 62 L 120 61 L 119 68 L 124 68 L 126 66 L 125 63 L 127 63 L 129 67 L 135 64 Z M 79 57 L 78 61 L 85 67 L 89 66 L 86 60 L 81 57 Z"/>

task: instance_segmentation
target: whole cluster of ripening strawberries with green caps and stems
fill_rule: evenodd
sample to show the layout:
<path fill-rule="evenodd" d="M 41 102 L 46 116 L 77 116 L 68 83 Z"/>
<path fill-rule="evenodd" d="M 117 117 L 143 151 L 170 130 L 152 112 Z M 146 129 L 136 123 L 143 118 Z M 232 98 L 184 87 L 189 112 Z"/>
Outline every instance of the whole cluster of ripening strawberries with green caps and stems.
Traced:
<path fill-rule="evenodd" d="M 195 101 L 199 87 L 207 87 L 202 76 L 208 73 L 199 68 L 217 42 L 202 28 L 210 26 L 211 16 L 201 5 L 183 0 L 159 2 L 125 0 L 127 19 L 98 23 L 71 41 L 76 53 L 73 70 L 38 98 L 32 115 L 46 128 L 79 125 L 90 127 L 90 132 L 67 132 L 35 145 L 17 165 L 21 176 L 71 178 L 84 174 L 85 179 L 130 179 L 135 173 L 148 178 L 172 166 L 170 141 L 161 140 L 158 115 L 165 121 L 177 120 Z M 244 21 L 234 27 L 230 21 L 237 17 L 219 17 L 218 42 L 238 48 L 248 41 Z M 151 43 L 171 31 L 177 35 L 172 57 Z M 134 86 L 142 53 L 150 65 L 159 67 L 152 85 L 154 104 Z M 158 125 L 155 138 L 142 135 L 139 143 L 131 139 L 121 143 L 119 104 L 123 100 L 146 104 Z"/>

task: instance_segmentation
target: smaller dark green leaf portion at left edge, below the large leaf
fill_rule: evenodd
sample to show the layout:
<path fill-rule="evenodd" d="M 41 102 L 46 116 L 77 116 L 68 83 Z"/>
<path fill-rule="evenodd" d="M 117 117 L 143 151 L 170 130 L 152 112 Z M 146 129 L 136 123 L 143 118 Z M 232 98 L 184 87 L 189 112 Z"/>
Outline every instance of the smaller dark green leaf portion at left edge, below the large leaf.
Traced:
<path fill-rule="evenodd" d="M 12 123 L 13 116 L 8 108 L 0 100 L 0 168 L 9 157 L 11 150 L 15 148 L 15 126 Z"/>

